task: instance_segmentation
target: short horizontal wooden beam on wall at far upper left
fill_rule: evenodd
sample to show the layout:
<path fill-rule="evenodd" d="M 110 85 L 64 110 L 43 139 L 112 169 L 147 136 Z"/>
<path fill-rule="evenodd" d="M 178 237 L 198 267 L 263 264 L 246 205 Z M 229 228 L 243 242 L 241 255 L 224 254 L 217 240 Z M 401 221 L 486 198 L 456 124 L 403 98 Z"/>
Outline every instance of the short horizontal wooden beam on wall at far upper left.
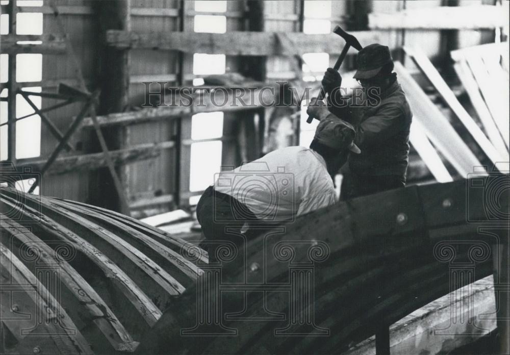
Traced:
<path fill-rule="evenodd" d="M 66 44 L 64 37 L 56 34 L 45 35 L 2 35 L 2 53 L 43 53 L 59 54 L 64 53 Z M 18 42 L 41 41 L 41 44 L 18 43 Z"/>

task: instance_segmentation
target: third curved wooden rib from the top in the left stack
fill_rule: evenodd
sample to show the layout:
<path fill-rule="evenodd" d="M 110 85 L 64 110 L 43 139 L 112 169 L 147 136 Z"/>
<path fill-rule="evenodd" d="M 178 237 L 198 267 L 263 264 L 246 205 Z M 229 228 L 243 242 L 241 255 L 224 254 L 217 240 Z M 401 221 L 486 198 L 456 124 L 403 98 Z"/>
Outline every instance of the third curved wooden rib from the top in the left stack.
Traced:
<path fill-rule="evenodd" d="M 10 193 L 12 194 L 11 190 L 6 190 L 7 195 Z M 44 215 L 58 220 L 60 224 L 80 234 L 83 239 L 99 247 L 114 262 L 122 265 L 128 272 L 137 275 L 138 283 L 148 283 L 149 280 L 152 280 L 154 283 L 149 285 L 154 286 L 148 286 L 149 289 L 146 292 L 154 292 L 157 295 L 156 297 L 161 299 L 160 307 L 162 309 L 166 307 L 165 303 L 169 301 L 169 296 L 184 292 L 184 286 L 177 282 L 174 277 L 122 238 L 105 230 L 98 224 L 54 204 L 48 198 L 35 198 L 31 194 L 23 194 L 23 198 L 26 206 L 40 207 Z M 154 289 L 152 289 L 153 287 Z M 160 292 L 157 288 L 161 288 L 164 292 Z"/>

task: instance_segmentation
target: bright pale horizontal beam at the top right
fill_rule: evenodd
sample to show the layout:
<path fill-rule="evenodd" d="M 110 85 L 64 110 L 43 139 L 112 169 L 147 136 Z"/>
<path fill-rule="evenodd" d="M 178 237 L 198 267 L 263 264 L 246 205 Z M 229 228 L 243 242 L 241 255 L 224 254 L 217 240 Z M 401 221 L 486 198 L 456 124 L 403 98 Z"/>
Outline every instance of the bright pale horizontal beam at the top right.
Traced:
<path fill-rule="evenodd" d="M 368 14 L 372 30 L 476 30 L 508 26 L 508 13 L 491 5 L 440 6 Z"/>

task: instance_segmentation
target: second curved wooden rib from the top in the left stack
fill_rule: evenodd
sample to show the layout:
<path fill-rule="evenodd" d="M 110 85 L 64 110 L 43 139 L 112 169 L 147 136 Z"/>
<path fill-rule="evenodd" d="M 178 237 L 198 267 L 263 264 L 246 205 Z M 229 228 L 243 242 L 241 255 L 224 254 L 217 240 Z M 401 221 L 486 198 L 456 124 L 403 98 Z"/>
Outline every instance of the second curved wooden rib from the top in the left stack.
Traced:
<path fill-rule="evenodd" d="M 129 225 L 126 225 L 125 223 L 118 222 L 115 219 L 109 216 L 105 216 L 101 213 L 98 213 L 90 208 L 72 205 L 66 201 L 58 199 L 52 199 L 52 201 L 55 204 L 62 206 L 64 208 L 70 210 L 74 209 L 75 212 L 77 212 L 83 217 L 89 218 L 91 217 L 95 219 L 98 223 L 101 223 L 101 225 L 108 226 L 109 230 L 113 229 L 116 235 L 122 236 L 126 240 L 128 240 L 128 238 L 136 239 L 140 243 L 143 243 L 148 248 L 150 248 L 153 251 L 152 255 L 156 257 L 158 256 L 163 257 L 166 261 L 176 266 L 179 270 L 181 270 L 183 273 L 185 273 L 193 280 L 196 280 L 196 278 L 203 273 L 203 271 L 200 268 L 198 268 L 195 264 L 191 263 L 190 261 L 184 259 L 180 254 L 176 253 L 167 246 L 161 244 L 157 240 L 147 237 L 145 234 L 139 232 L 138 230 L 134 229 Z M 154 259 L 154 257 L 152 257 L 151 259 Z"/>

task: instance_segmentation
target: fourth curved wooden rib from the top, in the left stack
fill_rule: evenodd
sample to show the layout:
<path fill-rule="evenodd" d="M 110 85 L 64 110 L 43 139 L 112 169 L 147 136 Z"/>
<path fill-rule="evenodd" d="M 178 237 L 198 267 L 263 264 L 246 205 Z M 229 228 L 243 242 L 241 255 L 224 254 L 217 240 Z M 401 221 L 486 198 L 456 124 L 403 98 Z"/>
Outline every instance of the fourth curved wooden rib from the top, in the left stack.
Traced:
<path fill-rule="evenodd" d="M 2 191 L 4 190 L 5 189 L 2 188 Z M 137 312 L 149 326 L 153 326 L 158 321 L 162 312 L 154 302 L 152 302 L 130 276 L 100 250 L 79 235 L 55 222 L 53 219 L 41 215 L 37 210 L 26 205 L 19 207 L 15 203 L 13 204 L 10 202 L 9 199 L 10 197 L 6 195 L 2 196 L 0 203 L 4 205 L 4 208 L 19 209 L 20 216 L 22 216 L 23 220 L 31 223 L 34 230 L 37 230 L 39 233 L 47 233 L 52 236 L 54 240 L 61 240 L 83 253 L 83 255 L 104 272 L 106 277 L 115 282 L 115 285 L 119 287 L 122 294 L 133 304 Z"/>

